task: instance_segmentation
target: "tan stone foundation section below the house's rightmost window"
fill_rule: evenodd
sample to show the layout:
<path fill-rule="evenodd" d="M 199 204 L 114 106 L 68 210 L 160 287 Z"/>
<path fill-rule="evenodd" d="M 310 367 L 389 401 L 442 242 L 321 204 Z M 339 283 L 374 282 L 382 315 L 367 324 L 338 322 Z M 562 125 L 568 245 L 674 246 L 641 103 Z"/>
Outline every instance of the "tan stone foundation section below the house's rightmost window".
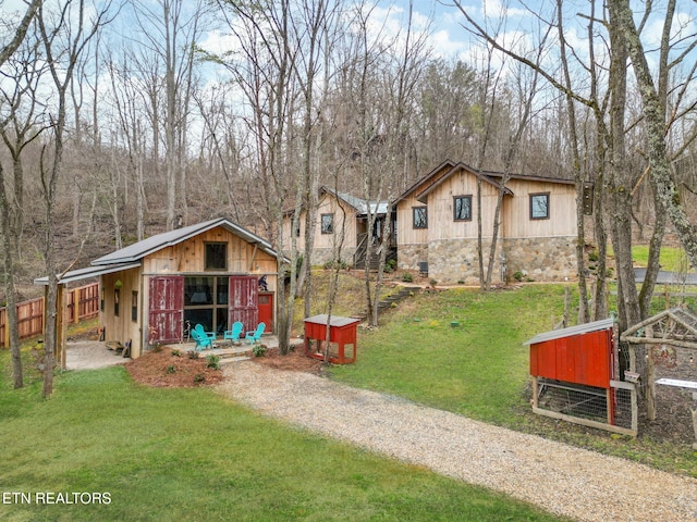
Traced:
<path fill-rule="evenodd" d="M 504 239 L 509 281 L 521 272 L 533 281 L 576 278 L 576 237 Z"/>

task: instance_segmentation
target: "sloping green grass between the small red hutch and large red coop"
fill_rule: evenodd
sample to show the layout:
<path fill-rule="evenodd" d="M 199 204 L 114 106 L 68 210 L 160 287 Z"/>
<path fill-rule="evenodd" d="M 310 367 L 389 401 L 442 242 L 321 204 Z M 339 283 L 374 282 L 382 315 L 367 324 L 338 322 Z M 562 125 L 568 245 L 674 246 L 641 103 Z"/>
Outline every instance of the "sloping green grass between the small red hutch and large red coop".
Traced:
<path fill-rule="evenodd" d="M 400 307 L 360 336 L 357 362 L 332 368 L 332 377 L 506 424 L 526 400 L 528 348 L 522 344 L 551 330 L 552 314 L 561 319 L 564 287 L 461 288 Z"/>

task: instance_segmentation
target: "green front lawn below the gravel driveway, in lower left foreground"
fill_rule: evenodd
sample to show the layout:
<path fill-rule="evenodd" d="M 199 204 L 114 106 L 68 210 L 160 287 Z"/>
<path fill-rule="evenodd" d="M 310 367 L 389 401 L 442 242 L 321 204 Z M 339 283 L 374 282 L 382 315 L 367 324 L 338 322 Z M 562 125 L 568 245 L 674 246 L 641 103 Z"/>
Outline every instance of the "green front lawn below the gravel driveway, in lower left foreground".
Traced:
<path fill-rule="evenodd" d="M 9 388 L 0 351 L 0 501 L 8 521 L 551 521 L 528 505 L 265 419 L 206 388 L 66 372 L 52 399 Z M 36 504 L 101 493 L 106 504 Z M 89 496 L 84 497 L 89 499 Z"/>

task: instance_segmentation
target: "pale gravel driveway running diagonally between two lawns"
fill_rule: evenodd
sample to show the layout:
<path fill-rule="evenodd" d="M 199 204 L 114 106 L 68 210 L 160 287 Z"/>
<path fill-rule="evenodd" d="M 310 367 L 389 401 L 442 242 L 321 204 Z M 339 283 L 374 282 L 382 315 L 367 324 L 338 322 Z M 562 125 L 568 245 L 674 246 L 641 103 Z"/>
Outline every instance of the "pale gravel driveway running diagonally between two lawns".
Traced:
<path fill-rule="evenodd" d="M 297 426 L 503 492 L 579 521 L 696 521 L 697 480 L 657 471 L 405 399 L 253 362 L 225 369 L 224 395 Z"/>

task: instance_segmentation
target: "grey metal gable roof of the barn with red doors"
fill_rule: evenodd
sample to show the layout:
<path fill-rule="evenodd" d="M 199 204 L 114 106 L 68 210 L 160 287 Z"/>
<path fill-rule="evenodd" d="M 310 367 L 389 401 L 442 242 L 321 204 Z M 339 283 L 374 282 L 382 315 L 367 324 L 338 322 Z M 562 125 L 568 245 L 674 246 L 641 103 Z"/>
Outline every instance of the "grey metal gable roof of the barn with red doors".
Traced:
<path fill-rule="evenodd" d="M 178 245 L 182 241 L 185 241 L 186 239 L 197 236 L 204 232 L 210 231 L 211 228 L 215 228 L 217 226 L 222 226 L 227 231 L 235 234 L 247 243 L 258 245 L 262 251 L 276 257 L 276 250 L 273 250 L 273 247 L 269 241 L 260 238 L 256 234 L 253 234 L 252 232 L 234 224 L 233 222 L 224 217 L 220 217 L 217 220 L 198 223 L 196 225 L 189 225 L 183 228 L 176 228 L 174 231 L 157 234 L 152 237 L 148 237 L 147 239 L 143 239 L 142 241 L 122 248 L 121 250 L 117 250 L 115 252 L 102 256 L 101 258 L 94 260 L 91 264 L 101 266 L 140 261 L 143 258 L 149 256 L 150 253 L 157 252 L 158 250 L 161 250 L 166 247 Z"/>

